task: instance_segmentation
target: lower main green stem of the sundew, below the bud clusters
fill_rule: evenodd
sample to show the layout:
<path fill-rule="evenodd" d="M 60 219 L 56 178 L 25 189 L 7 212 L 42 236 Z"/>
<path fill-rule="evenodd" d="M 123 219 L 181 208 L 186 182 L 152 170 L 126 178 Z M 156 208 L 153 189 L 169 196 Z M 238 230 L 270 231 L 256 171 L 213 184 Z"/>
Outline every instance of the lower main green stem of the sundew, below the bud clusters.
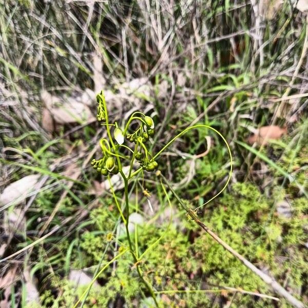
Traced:
<path fill-rule="evenodd" d="M 147 290 L 149 291 L 151 297 L 153 298 L 155 305 L 157 307 L 159 307 L 159 304 L 157 302 L 156 296 L 154 294 L 154 291 L 151 287 L 151 285 L 144 279 L 142 273 L 141 273 L 141 269 L 139 267 L 139 259 L 137 258 L 137 256 L 134 254 L 133 252 L 133 247 L 132 247 L 132 243 L 131 243 L 131 239 L 130 239 L 130 235 L 129 235 L 129 230 L 128 230 L 128 218 L 129 218 L 129 202 L 128 202 L 128 180 L 125 177 L 125 175 L 123 174 L 123 172 L 121 171 L 121 175 L 123 177 L 124 180 L 124 194 L 125 194 L 125 211 L 126 211 L 126 222 L 125 222 L 125 228 L 126 228 L 126 236 L 127 236 L 127 241 L 128 241 L 128 245 L 129 245 L 129 251 L 133 257 L 133 260 L 136 264 L 136 268 L 137 268 L 137 273 L 142 281 L 142 283 L 145 285 L 145 287 L 147 288 Z"/>

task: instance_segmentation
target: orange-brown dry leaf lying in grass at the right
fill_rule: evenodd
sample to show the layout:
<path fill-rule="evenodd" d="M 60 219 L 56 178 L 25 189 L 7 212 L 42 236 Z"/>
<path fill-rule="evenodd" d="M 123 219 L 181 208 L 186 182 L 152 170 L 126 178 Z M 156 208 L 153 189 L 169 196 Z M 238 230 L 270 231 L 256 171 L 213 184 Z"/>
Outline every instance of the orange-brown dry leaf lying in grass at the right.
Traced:
<path fill-rule="evenodd" d="M 262 126 L 247 141 L 249 144 L 254 144 L 255 142 L 267 144 L 268 140 L 280 139 L 284 134 L 286 134 L 285 127 L 281 128 L 276 125 Z"/>

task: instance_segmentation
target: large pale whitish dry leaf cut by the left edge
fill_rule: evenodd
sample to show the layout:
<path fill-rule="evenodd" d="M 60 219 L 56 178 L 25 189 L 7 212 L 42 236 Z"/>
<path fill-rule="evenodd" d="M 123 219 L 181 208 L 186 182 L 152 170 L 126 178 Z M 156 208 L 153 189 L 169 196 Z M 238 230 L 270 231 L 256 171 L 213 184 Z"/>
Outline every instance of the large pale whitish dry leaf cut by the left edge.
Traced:
<path fill-rule="evenodd" d="M 21 203 L 27 194 L 35 188 L 39 178 L 40 175 L 30 175 L 8 185 L 0 196 L 0 205 L 6 205 L 13 201 L 16 204 Z"/>

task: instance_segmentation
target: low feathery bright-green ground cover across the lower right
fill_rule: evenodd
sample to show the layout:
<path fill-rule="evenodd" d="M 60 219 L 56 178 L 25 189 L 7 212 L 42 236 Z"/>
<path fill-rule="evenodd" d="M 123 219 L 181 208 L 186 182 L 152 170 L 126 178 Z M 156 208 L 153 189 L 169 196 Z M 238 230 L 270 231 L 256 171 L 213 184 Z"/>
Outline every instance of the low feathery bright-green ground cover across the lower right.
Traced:
<path fill-rule="evenodd" d="M 204 217 L 206 223 L 243 256 L 261 268 L 264 266 L 264 270 L 269 265 L 268 269 L 275 274 L 276 279 L 287 279 L 290 287 L 297 290 L 307 282 L 308 266 L 304 251 L 298 241 L 294 242 L 298 235 L 304 240 L 302 224 L 296 224 L 295 221 L 305 213 L 307 205 L 303 198 L 298 198 L 294 203 L 297 210 L 288 221 L 280 217 L 269 220 L 272 206 L 272 200 L 265 198 L 255 185 L 237 183 L 215 206 L 205 210 Z M 108 224 L 109 217 L 104 211 L 93 210 L 91 215 L 95 215 L 103 225 Z M 244 294 L 233 297 L 233 294 L 223 292 L 215 294 L 215 297 L 219 296 L 215 301 L 213 294 L 202 291 L 210 290 L 213 286 L 232 286 L 266 293 L 268 286 L 207 234 L 197 232 L 197 237 L 191 243 L 190 233 L 195 233 L 196 228 L 191 228 L 190 224 L 184 221 L 186 229 L 168 223 L 144 224 L 138 228 L 140 252 L 161 238 L 155 248 L 148 251 L 146 258 L 140 260 L 140 268 L 153 287 L 158 291 L 172 291 L 175 286 L 176 290 L 199 290 L 194 293 L 162 294 L 160 304 L 166 307 L 213 307 L 218 306 L 218 302 L 232 299 L 234 307 L 273 305 L 271 300 Z M 164 235 L 166 229 L 168 232 Z M 102 251 L 102 241 L 93 239 L 89 235 L 85 236 L 81 249 L 88 252 L 88 247 L 92 247 L 93 252 Z M 97 261 L 92 255 L 93 264 Z M 104 278 L 108 278 L 107 282 L 100 290 L 90 292 L 85 307 L 105 306 L 119 297 L 128 306 L 136 305 L 141 300 L 137 296 L 140 281 L 136 272 L 128 271 L 128 268 L 134 268 L 129 254 L 117 261 L 114 270 L 107 270 L 104 274 Z M 282 301 L 281 306 L 289 305 Z"/>

